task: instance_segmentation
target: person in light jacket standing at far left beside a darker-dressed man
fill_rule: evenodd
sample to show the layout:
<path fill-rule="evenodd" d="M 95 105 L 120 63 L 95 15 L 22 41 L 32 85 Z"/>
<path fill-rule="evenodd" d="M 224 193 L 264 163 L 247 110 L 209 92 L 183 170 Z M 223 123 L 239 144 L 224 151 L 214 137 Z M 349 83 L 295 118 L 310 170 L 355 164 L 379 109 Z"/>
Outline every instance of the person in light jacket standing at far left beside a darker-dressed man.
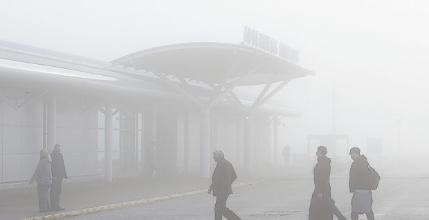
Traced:
<path fill-rule="evenodd" d="M 52 183 L 51 157 L 48 150 L 40 150 L 40 159 L 30 183 L 37 181 L 37 196 L 39 197 L 39 212 L 51 211 L 48 191 Z"/>

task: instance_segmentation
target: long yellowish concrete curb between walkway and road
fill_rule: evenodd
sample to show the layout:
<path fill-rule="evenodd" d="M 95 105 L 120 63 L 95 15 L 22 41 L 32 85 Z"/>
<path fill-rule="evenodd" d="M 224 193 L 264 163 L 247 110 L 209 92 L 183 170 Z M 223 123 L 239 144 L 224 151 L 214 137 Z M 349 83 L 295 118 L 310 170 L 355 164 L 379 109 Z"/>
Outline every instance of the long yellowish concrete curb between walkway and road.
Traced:
<path fill-rule="evenodd" d="M 257 182 L 257 183 L 261 183 L 261 182 Z M 248 186 L 248 185 L 253 185 L 256 183 L 237 183 L 237 184 L 233 184 L 232 187 L 240 187 L 240 186 Z M 61 213 L 56 213 L 56 214 L 49 214 L 49 215 L 45 215 L 42 217 L 30 217 L 27 219 L 23 219 L 23 220 L 51 220 L 51 219 L 62 219 L 65 217 L 73 217 L 73 216 L 77 216 L 80 214 L 89 214 L 89 213 L 94 213 L 94 212 L 100 212 L 100 211 L 104 211 L 104 210 L 113 210 L 115 208 L 123 208 L 123 207 L 128 207 L 128 206 L 136 206 L 136 205 L 141 205 L 141 204 L 145 204 L 145 203 L 150 203 L 150 202 L 154 202 L 154 201 L 161 201 L 161 200 L 165 200 L 165 199 L 174 199 L 174 198 L 179 198 L 179 197 L 185 197 L 185 196 L 190 196 L 190 195 L 194 195 L 194 194 L 200 194 L 203 192 L 207 192 L 208 189 L 202 189 L 202 190 L 194 190 L 194 191 L 190 191 L 190 192 L 182 192 L 182 193 L 176 193 L 176 194 L 169 194 L 169 195 L 165 195 L 165 196 L 161 196 L 161 197 L 154 197 L 154 198 L 149 198 L 149 199 L 139 199 L 139 200 L 134 200 L 134 201 L 125 201 L 122 203 L 115 203 L 115 204 L 110 204 L 110 205 L 106 205 L 106 206 L 97 206 L 97 207 L 92 207 L 92 208 L 84 208 L 84 209 L 80 209 L 80 210 L 73 210 L 70 212 L 61 212 Z"/>

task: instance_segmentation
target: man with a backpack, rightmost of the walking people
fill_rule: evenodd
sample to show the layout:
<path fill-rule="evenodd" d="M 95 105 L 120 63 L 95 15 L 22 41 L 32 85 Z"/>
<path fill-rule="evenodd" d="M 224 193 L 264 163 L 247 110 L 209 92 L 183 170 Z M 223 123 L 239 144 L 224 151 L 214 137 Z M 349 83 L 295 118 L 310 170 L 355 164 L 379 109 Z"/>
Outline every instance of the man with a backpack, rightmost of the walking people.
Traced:
<path fill-rule="evenodd" d="M 369 163 L 365 155 L 360 155 L 359 148 L 350 149 L 350 157 L 353 159 L 350 167 L 349 189 L 352 197 L 352 220 L 359 218 L 359 214 L 365 213 L 368 220 L 374 220 L 372 212 L 372 191 L 369 187 L 368 172 Z"/>

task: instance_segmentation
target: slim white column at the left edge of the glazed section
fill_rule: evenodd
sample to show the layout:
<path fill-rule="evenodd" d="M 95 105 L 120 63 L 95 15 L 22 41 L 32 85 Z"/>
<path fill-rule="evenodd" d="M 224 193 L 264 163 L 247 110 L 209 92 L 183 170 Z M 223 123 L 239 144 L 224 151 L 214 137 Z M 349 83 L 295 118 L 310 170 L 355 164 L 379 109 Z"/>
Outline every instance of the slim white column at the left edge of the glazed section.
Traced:
<path fill-rule="evenodd" d="M 111 159 L 111 146 L 113 144 L 112 108 L 109 101 L 104 110 L 104 181 L 113 181 L 113 163 Z"/>

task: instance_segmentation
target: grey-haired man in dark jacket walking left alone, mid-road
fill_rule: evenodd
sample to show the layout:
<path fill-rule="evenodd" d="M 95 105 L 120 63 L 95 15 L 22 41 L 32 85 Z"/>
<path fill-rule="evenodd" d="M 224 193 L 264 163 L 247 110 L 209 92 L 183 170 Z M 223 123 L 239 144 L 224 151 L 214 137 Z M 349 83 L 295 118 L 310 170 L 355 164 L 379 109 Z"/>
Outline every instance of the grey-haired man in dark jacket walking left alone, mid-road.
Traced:
<path fill-rule="evenodd" d="M 225 159 L 223 150 L 215 150 L 213 159 L 217 165 L 213 172 L 212 185 L 208 189 L 208 194 L 213 191 L 213 196 L 216 197 L 215 220 L 221 220 L 222 216 L 228 220 L 241 220 L 237 214 L 226 208 L 226 199 L 232 194 L 231 185 L 237 179 L 237 174 L 235 174 L 230 161 Z"/>

